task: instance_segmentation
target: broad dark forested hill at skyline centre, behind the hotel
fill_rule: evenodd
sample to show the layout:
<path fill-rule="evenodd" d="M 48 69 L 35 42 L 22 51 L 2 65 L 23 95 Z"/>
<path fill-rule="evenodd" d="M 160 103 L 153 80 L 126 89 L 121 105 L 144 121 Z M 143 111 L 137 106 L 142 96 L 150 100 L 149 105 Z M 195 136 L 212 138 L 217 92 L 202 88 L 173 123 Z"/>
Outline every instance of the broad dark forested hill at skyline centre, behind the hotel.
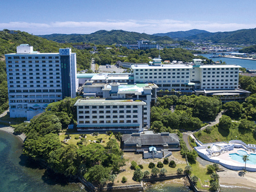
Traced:
<path fill-rule="evenodd" d="M 138 40 L 149 40 L 156 41 L 158 43 L 174 43 L 174 40 L 168 36 L 160 37 L 149 35 L 146 33 L 128 32 L 124 30 L 99 30 L 91 34 L 50 34 L 50 35 L 39 35 L 40 37 L 46 38 L 48 40 L 53 40 L 56 42 L 86 42 L 94 44 L 124 44 L 133 43 Z"/>

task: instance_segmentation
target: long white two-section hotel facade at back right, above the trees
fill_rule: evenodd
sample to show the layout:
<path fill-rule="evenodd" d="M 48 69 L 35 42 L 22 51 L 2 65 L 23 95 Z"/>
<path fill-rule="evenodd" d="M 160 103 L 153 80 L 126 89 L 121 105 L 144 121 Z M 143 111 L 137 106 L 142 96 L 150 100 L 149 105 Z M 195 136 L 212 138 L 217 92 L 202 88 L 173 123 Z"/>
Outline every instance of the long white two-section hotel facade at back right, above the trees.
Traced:
<path fill-rule="evenodd" d="M 189 90 L 185 84 L 195 82 L 196 89 L 238 88 L 237 65 L 160 65 L 132 66 L 134 82 L 154 82 L 160 89 Z"/>

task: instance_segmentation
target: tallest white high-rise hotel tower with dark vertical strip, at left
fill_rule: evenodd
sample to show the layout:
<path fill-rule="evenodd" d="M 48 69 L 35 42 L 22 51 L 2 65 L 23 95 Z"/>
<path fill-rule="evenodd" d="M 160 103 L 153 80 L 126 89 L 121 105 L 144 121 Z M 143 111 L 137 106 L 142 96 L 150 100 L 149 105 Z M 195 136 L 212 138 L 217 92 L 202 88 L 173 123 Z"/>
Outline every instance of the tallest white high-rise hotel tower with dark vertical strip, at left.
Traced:
<path fill-rule="evenodd" d="M 71 48 L 40 53 L 21 44 L 17 53 L 5 58 L 10 117 L 30 120 L 49 103 L 76 97 L 76 53 L 71 53 Z"/>

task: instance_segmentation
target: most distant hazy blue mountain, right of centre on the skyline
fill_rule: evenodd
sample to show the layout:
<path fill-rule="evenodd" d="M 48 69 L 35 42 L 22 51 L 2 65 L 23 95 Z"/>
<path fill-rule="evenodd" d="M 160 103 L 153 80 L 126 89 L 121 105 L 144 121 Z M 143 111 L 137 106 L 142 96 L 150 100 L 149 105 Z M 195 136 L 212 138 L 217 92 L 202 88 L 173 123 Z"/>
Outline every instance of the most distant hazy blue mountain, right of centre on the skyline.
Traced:
<path fill-rule="evenodd" d="M 192 29 L 192 30 L 188 30 L 188 31 L 176 31 L 176 32 L 168 32 L 168 33 L 156 33 L 153 34 L 155 36 L 168 36 L 170 38 L 186 38 L 192 35 L 197 35 L 200 33 L 210 33 L 208 31 L 205 30 L 199 30 L 199 29 Z"/>

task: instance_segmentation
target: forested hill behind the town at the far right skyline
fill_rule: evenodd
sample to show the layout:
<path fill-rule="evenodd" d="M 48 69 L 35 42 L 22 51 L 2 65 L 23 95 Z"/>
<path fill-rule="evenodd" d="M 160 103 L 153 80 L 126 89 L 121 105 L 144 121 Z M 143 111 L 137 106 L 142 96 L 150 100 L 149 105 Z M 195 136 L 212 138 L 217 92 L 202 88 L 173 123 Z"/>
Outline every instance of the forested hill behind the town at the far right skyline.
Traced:
<path fill-rule="evenodd" d="M 185 37 L 186 40 L 211 41 L 228 44 L 256 44 L 256 28 L 230 32 L 200 33 Z"/>

